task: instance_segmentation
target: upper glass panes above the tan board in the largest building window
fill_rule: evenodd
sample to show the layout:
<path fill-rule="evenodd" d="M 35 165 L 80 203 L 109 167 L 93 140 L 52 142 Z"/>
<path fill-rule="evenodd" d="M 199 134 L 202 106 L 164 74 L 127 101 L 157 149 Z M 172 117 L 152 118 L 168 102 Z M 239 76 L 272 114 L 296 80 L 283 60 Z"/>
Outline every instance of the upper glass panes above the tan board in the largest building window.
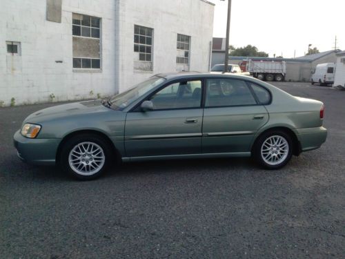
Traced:
<path fill-rule="evenodd" d="M 88 15 L 72 15 L 72 35 L 99 39 L 101 19 Z"/>

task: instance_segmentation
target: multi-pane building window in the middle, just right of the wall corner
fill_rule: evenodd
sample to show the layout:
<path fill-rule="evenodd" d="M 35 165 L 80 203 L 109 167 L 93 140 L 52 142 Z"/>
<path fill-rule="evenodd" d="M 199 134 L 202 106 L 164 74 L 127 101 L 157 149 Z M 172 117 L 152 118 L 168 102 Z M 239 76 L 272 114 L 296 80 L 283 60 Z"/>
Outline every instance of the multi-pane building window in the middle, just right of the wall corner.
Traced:
<path fill-rule="evenodd" d="M 134 26 L 135 69 L 152 70 L 152 38 L 153 29 L 144 26 Z"/>

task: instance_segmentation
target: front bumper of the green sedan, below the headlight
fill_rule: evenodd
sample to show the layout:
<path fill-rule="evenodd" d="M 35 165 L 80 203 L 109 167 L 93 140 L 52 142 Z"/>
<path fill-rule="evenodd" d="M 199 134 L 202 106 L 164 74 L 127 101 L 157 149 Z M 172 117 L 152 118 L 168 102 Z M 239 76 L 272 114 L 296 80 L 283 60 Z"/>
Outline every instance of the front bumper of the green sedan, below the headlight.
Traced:
<path fill-rule="evenodd" d="M 30 139 L 14 133 L 14 147 L 21 160 L 29 164 L 54 165 L 60 139 Z"/>

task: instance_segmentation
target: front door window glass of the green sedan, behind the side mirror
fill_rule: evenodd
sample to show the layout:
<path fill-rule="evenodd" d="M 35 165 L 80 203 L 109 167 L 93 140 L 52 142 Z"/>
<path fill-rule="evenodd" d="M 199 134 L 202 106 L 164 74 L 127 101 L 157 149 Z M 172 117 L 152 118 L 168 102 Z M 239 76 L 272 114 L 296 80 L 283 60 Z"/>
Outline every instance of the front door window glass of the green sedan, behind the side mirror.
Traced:
<path fill-rule="evenodd" d="M 201 107 L 201 81 L 170 84 L 150 98 L 155 110 Z"/>

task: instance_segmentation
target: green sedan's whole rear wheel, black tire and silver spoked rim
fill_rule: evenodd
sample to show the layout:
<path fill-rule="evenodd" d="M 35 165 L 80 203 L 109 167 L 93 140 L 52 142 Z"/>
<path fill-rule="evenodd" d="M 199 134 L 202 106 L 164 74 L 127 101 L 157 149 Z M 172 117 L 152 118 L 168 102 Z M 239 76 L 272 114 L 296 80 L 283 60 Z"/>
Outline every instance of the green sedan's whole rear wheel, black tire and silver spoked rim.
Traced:
<path fill-rule="evenodd" d="M 252 155 L 265 169 L 281 169 L 293 155 L 293 140 L 285 131 L 268 131 L 258 137 Z"/>

